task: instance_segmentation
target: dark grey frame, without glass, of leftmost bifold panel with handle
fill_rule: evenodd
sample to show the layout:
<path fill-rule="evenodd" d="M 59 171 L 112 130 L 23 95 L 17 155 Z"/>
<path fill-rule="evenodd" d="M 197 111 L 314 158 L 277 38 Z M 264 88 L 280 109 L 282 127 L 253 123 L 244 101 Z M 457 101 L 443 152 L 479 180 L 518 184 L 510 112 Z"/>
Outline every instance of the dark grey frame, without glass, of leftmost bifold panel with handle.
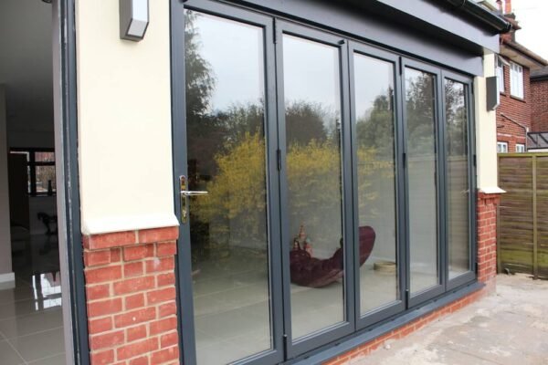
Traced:
<path fill-rule="evenodd" d="M 184 103 L 184 8 L 192 9 L 205 14 L 237 20 L 264 29 L 264 59 L 265 59 L 265 139 L 267 142 L 267 192 L 268 193 L 268 231 L 269 231 L 269 289 L 270 323 L 272 326 L 272 349 L 261 352 L 252 357 L 239 360 L 237 364 L 279 363 L 283 361 L 283 303 L 282 282 L 279 271 L 281 264 L 279 247 L 279 179 L 278 179 L 278 141 L 276 115 L 276 82 L 274 64 L 274 33 L 273 19 L 258 13 L 243 10 L 208 0 L 187 1 L 184 4 L 171 1 L 171 49 L 172 49 L 172 113 L 174 136 L 174 201 L 177 216 L 180 216 L 181 206 L 179 199 L 179 176 L 186 175 L 186 110 Z M 189 224 L 181 224 L 178 240 L 177 255 L 177 282 L 178 314 L 183 336 L 181 343 L 182 357 L 185 364 L 195 364 L 195 328 L 194 302 L 191 275 L 190 230 Z"/>

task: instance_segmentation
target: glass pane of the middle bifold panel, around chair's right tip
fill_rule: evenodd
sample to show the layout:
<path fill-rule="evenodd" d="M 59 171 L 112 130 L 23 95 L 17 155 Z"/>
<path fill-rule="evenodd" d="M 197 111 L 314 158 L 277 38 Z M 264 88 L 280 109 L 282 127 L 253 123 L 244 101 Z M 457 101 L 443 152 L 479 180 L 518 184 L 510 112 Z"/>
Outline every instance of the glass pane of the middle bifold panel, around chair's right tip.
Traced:
<path fill-rule="evenodd" d="M 353 55 L 358 232 L 374 231 L 371 257 L 360 268 L 361 313 L 398 299 L 395 226 L 394 64 Z M 364 237 L 358 236 L 358 244 Z M 362 249 L 362 247 L 360 247 Z"/>

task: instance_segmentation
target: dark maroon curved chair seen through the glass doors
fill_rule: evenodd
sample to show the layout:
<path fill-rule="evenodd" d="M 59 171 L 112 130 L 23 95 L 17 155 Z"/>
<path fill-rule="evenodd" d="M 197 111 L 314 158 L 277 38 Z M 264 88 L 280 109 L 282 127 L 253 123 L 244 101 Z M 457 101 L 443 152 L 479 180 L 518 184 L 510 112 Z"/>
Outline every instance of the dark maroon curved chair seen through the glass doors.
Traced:
<path fill-rule="evenodd" d="M 374 229 L 368 225 L 360 227 L 360 266 L 371 255 L 374 246 Z M 325 259 L 312 257 L 304 248 L 298 247 L 290 251 L 291 282 L 301 287 L 325 287 L 339 280 L 344 274 L 344 257 L 341 248 Z"/>

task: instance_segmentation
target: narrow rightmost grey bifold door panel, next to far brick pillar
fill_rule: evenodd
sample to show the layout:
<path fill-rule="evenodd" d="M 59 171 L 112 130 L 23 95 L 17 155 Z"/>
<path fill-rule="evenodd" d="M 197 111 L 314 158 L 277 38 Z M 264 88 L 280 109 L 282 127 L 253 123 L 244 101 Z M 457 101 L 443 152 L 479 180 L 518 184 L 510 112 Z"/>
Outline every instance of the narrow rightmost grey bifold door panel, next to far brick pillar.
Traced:
<path fill-rule="evenodd" d="M 471 132 L 472 108 L 470 78 L 442 71 L 444 141 L 446 153 L 447 289 L 459 287 L 475 277 L 476 232 L 473 163 L 474 141 Z"/>

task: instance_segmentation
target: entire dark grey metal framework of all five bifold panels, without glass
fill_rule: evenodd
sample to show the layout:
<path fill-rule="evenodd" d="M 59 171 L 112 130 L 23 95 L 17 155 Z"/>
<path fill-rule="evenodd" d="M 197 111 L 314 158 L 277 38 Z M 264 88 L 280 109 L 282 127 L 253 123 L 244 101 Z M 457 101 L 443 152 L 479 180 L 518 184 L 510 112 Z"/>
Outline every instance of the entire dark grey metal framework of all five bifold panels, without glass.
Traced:
<path fill-rule="evenodd" d="M 471 271 L 465 275 L 448 281 L 448 250 L 446 217 L 440 217 L 441 212 L 446 212 L 446 166 L 445 166 L 445 120 L 444 88 L 445 78 L 462 80 L 467 84 L 467 101 L 469 105 L 469 156 L 475 159 L 474 129 L 473 129 L 473 100 L 471 98 L 472 83 L 470 78 L 446 71 L 444 68 L 431 66 L 411 58 L 404 58 L 397 52 L 387 51 L 380 47 L 368 46 L 362 42 L 350 41 L 348 36 L 324 31 L 317 27 L 297 24 L 289 20 L 279 20 L 279 17 L 269 13 L 263 13 L 253 8 L 229 5 L 229 2 L 213 0 L 188 0 L 184 3 L 171 0 L 171 48 L 172 48 L 172 112 L 173 112 L 173 138 L 174 138 L 174 201 L 176 214 L 181 211 L 178 176 L 186 172 L 186 141 L 185 131 L 185 104 L 184 104 L 184 8 L 191 8 L 207 14 L 221 16 L 265 29 L 265 85 L 267 113 L 266 113 L 266 139 L 268 160 L 268 190 L 269 190 L 269 272 L 271 298 L 271 320 L 273 327 L 273 349 L 256 356 L 237 361 L 237 364 L 268 364 L 286 363 L 295 361 L 307 361 L 311 354 L 318 354 L 321 349 L 333 349 L 342 340 L 351 340 L 364 337 L 365 334 L 379 333 L 382 329 L 404 320 L 416 318 L 423 308 L 433 308 L 436 303 L 444 302 L 445 297 L 451 297 L 458 293 L 477 289 L 474 286 L 476 273 Z M 282 207 L 287 206 L 288 186 L 285 176 L 286 168 L 286 142 L 285 142 L 285 109 L 283 105 L 283 34 L 299 36 L 312 41 L 338 47 L 340 51 L 341 72 L 341 106 L 342 106 L 342 196 L 343 201 L 343 235 L 345 242 L 345 321 L 341 324 L 326 328 L 325 330 L 311 334 L 297 341 L 291 341 L 290 337 L 290 269 L 289 269 L 289 242 L 287 214 L 283 214 Z M 271 37 L 271 38 L 270 38 Z M 270 41 L 272 39 L 272 41 Z M 359 283 L 358 277 L 359 259 L 357 245 L 351 245 L 357 237 L 357 214 L 354 206 L 357 197 L 354 187 L 357 176 L 355 175 L 355 110 L 351 96 L 353 95 L 353 52 L 376 57 L 395 65 L 395 162 L 397 178 L 397 229 L 399 260 L 399 295 L 400 300 L 389 304 L 385 308 L 379 308 L 360 316 L 359 311 Z M 274 62 L 275 61 L 275 62 Z M 409 296 L 406 288 L 409 287 L 409 242 L 408 242 L 408 186 L 406 176 L 406 110 L 405 110 L 405 68 L 414 68 L 425 71 L 436 77 L 436 148 L 437 148 L 437 226 L 438 226 L 438 273 L 439 279 L 436 287 L 420 292 L 415 296 Z M 280 156 L 280 169 L 278 169 L 278 155 Z M 470 189 L 475 192 L 475 165 L 472 158 L 469 159 Z M 475 193 L 470 193 L 470 263 L 475 266 L 476 261 L 476 237 Z M 280 202 L 280 203 L 279 203 Z M 182 225 L 179 236 L 179 255 L 177 255 L 177 285 L 180 328 L 182 329 L 181 348 L 184 363 L 195 363 L 195 338 L 194 338 L 194 313 L 192 297 L 192 277 L 190 259 L 190 235 L 188 224 Z M 281 272 L 279 267 L 282 268 Z M 472 285 L 470 287 L 470 285 Z M 470 289 L 472 288 L 473 289 Z M 450 292 L 449 292 L 450 291 Z M 370 328 L 373 328 L 370 330 Z M 314 355 L 316 356 L 316 355 Z"/>

